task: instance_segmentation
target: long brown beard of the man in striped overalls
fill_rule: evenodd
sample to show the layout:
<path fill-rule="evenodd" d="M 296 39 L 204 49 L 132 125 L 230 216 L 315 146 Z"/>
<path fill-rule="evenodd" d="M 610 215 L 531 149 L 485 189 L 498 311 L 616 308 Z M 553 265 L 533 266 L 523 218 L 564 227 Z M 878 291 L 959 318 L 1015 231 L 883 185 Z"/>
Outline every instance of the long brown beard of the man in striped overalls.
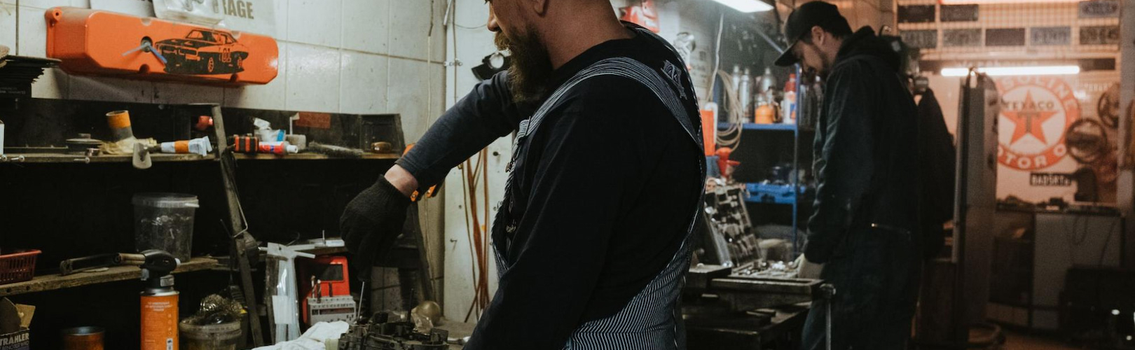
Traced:
<path fill-rule="evenodd" d="M 535 104 L 544 100 L 547 82 L 552 77 L 552 59 L 544 48 L 536 31 L 528 28 L 527 33 L 510 39 L 503 32 L 496 33 L 498 50 L 508 50 L 512 66 L 508 67 L 508 87 L 512 100 L 522 104 Z"/>

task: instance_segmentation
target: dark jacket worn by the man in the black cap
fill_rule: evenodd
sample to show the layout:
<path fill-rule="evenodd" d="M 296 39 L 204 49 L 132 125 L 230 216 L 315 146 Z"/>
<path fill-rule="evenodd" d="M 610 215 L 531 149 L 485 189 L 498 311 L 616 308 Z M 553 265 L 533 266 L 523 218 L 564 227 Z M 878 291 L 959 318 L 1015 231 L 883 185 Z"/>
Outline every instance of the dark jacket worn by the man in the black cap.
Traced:
<path fill-rule="evenodd" d="M 805 247 L 812 262 L 839 254 L 850 230 L 917 234 L 917 112 L 899 65 L 871 27 L 840 46 L 816 127 L 816 200 Z"/>

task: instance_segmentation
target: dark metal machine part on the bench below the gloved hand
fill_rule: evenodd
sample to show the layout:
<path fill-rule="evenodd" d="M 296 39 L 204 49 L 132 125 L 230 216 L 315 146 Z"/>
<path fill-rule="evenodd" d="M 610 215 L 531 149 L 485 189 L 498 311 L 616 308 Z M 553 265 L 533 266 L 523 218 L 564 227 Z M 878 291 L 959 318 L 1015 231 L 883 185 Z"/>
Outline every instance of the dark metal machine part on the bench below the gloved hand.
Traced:
<path fill-rule="evenodd" d="M 387 322 L 389 314 L 378 313 L 369 322 L 359 319 L 339 338 L 339 350 L 447 350 L 449 331 L 414 330 L 410 322 Z"/>

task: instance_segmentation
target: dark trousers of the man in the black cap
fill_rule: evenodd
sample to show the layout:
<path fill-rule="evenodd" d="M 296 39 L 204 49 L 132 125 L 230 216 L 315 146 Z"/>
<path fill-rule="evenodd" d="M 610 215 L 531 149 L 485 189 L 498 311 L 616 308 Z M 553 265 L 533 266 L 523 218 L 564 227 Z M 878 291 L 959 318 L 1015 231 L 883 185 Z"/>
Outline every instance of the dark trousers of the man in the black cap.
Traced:
<path fill-rule="evenodd" d="M 801 349 L 826 348 L 827 304 L 832 302 L 832 349 L 905 350 L 922 271 L 918 239 L 882 229 L 849 234 L 821 273 L 835 287 L 835 297 L 812 302 Z"/>

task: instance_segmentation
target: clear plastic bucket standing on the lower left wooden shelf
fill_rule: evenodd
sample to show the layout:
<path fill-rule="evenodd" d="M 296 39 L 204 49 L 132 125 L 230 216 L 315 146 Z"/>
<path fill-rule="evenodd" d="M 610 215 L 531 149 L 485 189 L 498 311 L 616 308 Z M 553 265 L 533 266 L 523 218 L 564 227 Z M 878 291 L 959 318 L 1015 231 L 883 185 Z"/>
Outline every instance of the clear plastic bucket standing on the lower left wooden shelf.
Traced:
<path fill-rule="evenodd" d="M 193 217 L 200 204 L 186 194 L 134 195 L 134 246 L 138 251 L 166 250 L 188 262 L 193 246 Z"/>

